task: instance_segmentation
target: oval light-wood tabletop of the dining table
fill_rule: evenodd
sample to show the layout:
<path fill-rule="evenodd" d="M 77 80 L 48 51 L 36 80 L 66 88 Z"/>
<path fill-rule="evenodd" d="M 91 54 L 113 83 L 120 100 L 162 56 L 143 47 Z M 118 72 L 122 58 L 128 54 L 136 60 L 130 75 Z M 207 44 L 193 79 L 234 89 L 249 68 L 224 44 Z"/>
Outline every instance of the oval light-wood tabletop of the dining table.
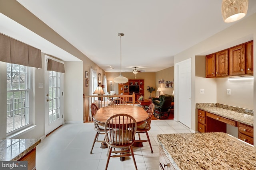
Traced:
<path fill-rule="evenodd" d="M 104 126 L 110 116 L 118 113 L 124 113 L 132 116 L 136 120 L 138 126 L 145 123 L 148 119 L 148 113 L 142 107 L 133 105 L 112 105 L 101 107 L 93 116 L 93 119 L 98 125 Z"/>

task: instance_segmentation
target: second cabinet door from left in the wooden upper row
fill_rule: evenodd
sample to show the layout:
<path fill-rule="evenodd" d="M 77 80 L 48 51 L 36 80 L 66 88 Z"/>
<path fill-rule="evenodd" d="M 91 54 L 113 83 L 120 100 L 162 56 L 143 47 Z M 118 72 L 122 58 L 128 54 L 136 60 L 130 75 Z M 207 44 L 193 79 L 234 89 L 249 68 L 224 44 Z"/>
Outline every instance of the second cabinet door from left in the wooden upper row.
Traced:
<path fill-rule="evenodd" d="M 215 60 L 216 77 L 228 76 L 228 50 L 216 53 Z"/>

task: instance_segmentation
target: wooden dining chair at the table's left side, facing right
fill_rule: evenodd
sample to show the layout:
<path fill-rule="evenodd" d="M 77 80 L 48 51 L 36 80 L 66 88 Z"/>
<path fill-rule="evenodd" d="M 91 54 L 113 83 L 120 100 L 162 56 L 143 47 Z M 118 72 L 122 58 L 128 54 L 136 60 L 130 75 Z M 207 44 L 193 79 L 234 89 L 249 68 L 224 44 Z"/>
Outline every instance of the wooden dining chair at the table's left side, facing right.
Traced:
<path fill-rule="evenodd" d="M 96 114 L 97 111 L 98 111 L 98 107 L 96 106 L 96 104 L 92 103 L 91 104 L 92 117 L 94 117 L 94 115 Z M 95 142 L 106 143 L 105 137 L 104 137 L 104 141 L 98 140 L 99 135 L 105 135 L 104 127 L 100 127 L 95 121 L 93 121 L 93 122 L 94 122 L 94 130 L 96 131 L 96 134 L 94 137 L 94 141 L 92 143 L 92 149 L 94 147 Z M 92 154 L 92 149 L 90 151 L 90 154 Z"/>

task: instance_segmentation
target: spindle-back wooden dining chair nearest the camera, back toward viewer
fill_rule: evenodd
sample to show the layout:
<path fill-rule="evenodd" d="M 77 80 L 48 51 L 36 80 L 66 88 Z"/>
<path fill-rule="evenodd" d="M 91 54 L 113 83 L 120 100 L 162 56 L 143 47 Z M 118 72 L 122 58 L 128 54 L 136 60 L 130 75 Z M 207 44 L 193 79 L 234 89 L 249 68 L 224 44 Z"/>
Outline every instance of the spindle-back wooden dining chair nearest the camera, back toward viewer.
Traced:
<path fill-rule="evenodd" d="M 130 115 L 116 114 L 108 118 L 105 123 L 106 143 L 108 144 L 108 158 L 105 170 L 108 169 L 110 157 L 120 157 L 121 160 L 121 157 L 127 156 L 132 156 L 135 168 L 137 170 L 137 165 L 132 149 L 132 144 L 135 140 L 136 129 L 137 122 Z M 114 150 L 112 150 L 113 148 Z"/>

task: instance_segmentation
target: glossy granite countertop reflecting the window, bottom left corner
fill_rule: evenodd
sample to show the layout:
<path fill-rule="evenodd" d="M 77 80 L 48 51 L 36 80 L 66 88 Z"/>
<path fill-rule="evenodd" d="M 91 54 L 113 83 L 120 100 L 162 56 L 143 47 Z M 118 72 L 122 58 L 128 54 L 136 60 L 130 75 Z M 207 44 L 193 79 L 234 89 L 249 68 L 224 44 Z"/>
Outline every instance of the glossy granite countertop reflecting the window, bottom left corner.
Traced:
<path fill-rule="evenodd" d="M 4 139 L 0 140 L 0 160 L 16 161 L 34 149 L 41 139 Z"/>

